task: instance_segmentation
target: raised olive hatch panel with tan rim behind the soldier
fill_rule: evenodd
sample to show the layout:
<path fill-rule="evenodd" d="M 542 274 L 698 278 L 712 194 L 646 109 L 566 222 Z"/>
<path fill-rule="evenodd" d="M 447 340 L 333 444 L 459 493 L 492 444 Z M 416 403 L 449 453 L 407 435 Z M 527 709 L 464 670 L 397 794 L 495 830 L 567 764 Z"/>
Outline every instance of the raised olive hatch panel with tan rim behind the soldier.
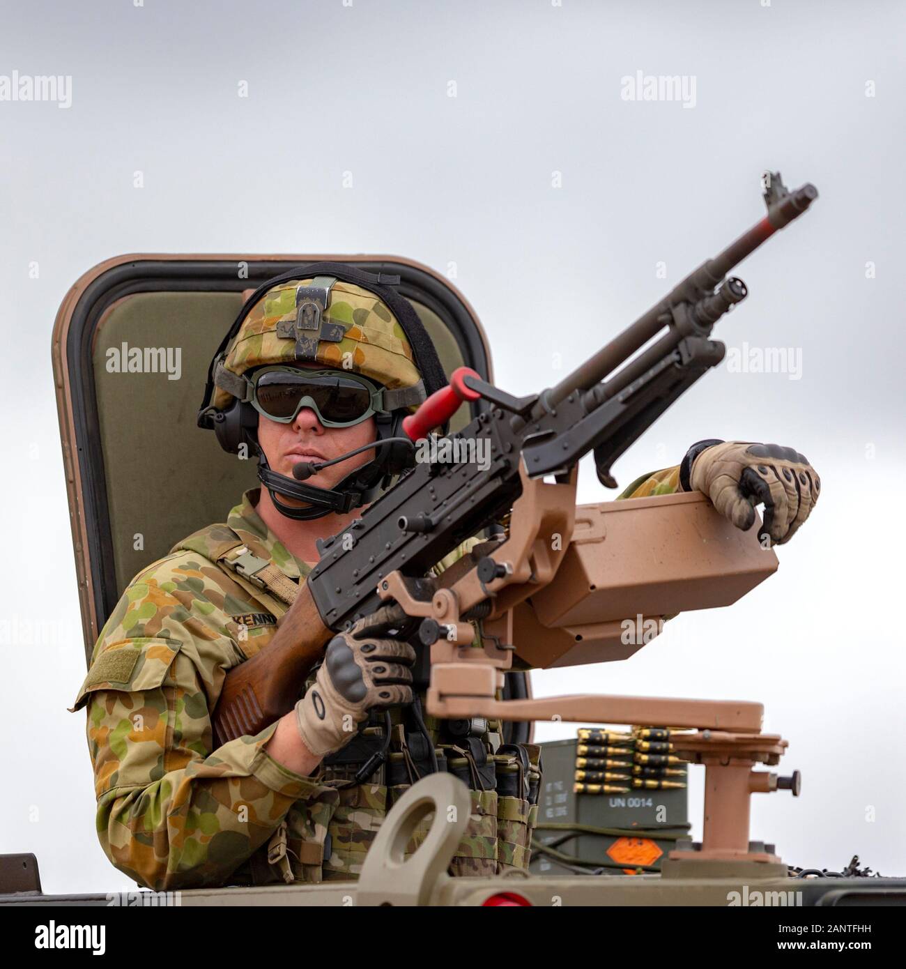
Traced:
<path fill-rule="evenodd" d="M 76 554 L 86 661 L 123 589 L 258 485 L 254 458 L 223 452 L 196 425 L 210 360 L 245 298 L 296 266 L 346 263 L 400 277 L 447 374 L 493 380 L 490 350 L 466 299 L 438 273 L 395 256 L 132 255 L 85 272 L 53 328 L 53 375 Z M 122 372 L 129 351 L 151 372 Z M 464 403 L 453 429 L 484 401 Z M 508 692 L 527 695 L 525 673 Z M 512 735 L 526 740 L 528 725 Z"/>

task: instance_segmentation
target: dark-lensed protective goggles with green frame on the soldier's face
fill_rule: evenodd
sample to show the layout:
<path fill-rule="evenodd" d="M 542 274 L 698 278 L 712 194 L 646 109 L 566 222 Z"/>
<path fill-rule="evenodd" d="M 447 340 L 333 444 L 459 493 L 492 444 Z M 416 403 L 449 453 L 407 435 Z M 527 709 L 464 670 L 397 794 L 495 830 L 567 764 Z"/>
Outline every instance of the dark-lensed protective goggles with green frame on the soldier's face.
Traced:
<path fill-rule="evenodd" d="M 310 407 L 325 427 L 351 427 L 384 413 L 384 388 L 358 373 L 266 366 L 250 380 L 252 406 L 270 421 L 292 423 Z"/>

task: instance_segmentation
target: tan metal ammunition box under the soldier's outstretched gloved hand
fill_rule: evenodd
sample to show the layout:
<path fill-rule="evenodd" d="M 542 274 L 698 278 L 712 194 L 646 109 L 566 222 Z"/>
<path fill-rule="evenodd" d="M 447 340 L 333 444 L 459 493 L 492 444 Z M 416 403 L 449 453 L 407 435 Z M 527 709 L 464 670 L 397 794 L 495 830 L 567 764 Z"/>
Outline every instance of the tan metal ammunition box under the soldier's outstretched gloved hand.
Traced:
<path fill-rule="evenodd" d="M 664 616 L 730 606 L 777 569 L 698 491 L 579 505 L 556 575 L 513 612 L 519 658 L 539 669 L 632 656 Z"/>

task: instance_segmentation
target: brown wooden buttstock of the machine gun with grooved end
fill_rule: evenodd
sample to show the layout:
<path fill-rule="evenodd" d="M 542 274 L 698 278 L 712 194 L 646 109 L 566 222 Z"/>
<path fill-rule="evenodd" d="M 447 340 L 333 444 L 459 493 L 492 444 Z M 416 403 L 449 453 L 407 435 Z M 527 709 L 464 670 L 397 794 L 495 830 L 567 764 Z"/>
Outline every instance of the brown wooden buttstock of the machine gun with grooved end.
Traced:
<path fill-rule="evenodd" d="M 307 584 L 277 623 L 266 649 L 227 673 L 214 707 L 214 749 L 238 736 L 255 735 L 296 705 L 305 677 L 333 635 Z"/>

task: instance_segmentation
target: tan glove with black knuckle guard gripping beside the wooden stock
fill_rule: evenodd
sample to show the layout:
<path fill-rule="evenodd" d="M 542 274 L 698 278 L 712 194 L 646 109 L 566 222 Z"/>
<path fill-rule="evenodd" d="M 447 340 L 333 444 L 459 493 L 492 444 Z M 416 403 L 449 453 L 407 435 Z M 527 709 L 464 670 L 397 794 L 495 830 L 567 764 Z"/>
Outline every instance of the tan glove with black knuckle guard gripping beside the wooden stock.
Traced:
<path fill-rule="evenodd" d="M 398 628 L 399 612 L 385 606 L 328 642 L 315 682 L 296 704 L 298 733 L 315 756 L 345 747 L 374 707 L 412 703 L 415 650 L 379 639 Z"/>

